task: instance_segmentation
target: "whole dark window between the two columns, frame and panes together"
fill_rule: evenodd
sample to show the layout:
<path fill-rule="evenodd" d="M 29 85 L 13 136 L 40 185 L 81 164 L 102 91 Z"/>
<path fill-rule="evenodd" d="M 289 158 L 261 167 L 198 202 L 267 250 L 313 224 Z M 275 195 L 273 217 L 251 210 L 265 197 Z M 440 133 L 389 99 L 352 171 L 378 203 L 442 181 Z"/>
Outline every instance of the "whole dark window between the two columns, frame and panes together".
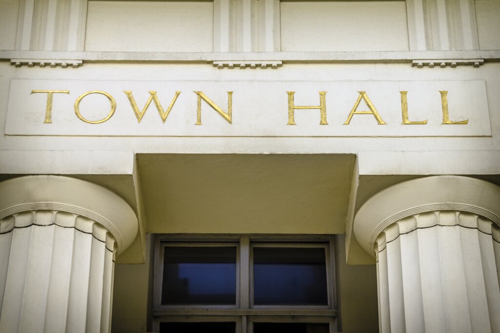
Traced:
<path fill-rule="evenodd" d="M 154 331 L 336 331 L 330 236 L 163 235 L 155 246 Z"/>

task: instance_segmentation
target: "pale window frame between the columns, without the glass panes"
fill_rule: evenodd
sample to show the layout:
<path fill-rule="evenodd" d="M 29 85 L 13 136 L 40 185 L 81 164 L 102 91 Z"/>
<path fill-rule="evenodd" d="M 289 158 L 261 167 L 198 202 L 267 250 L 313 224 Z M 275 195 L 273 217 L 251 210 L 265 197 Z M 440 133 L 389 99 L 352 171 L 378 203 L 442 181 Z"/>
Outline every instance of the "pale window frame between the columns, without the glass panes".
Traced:
<path fill-rule="evenodd" d="M 234 321 L 235 333 L 251 333 L 253 322 L 328 323 L 337 331 L 334 235 L 329 234 L 156 234 L 152 315 L 153 331 L 160 322 Z M 163 253 L 166 246 L 236 246 L 235 305 L 161 305 Z M 323 247 L 325 249 L 327 305 L 254 305 L 253 247 Z"/>

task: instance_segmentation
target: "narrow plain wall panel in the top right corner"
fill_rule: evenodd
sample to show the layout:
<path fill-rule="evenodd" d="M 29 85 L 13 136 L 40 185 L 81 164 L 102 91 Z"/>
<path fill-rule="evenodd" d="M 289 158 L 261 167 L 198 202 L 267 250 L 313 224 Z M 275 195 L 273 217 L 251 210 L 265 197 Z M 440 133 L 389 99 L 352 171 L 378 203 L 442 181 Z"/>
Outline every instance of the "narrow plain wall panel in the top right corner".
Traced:
<path fill-rule="evenodd" d="M 500 49 L 500 0 L 476 0 L 475 17 L 480 49 Z"/>

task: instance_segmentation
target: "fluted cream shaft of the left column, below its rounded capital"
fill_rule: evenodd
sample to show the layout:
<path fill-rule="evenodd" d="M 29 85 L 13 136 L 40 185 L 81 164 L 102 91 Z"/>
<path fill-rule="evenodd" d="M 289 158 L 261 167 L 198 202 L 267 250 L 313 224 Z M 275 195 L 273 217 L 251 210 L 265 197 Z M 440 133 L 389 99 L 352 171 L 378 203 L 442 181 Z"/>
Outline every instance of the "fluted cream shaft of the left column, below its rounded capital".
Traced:
<path fill-rule="evenodd" d="M 0 331 L 109 331 L 116 247 L 102 225 L 54 210 L 0 225 Z"/>

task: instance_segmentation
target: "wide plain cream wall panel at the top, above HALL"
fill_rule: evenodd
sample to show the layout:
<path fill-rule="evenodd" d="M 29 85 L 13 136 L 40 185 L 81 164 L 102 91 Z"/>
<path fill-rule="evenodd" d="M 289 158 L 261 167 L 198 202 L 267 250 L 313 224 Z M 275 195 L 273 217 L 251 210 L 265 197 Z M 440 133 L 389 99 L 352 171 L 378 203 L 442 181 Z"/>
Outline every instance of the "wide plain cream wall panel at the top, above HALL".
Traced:
<path fill-rule="evenodd" d="M 404 1 L 282 1 L 282 51 L 408 50 Z"/>

